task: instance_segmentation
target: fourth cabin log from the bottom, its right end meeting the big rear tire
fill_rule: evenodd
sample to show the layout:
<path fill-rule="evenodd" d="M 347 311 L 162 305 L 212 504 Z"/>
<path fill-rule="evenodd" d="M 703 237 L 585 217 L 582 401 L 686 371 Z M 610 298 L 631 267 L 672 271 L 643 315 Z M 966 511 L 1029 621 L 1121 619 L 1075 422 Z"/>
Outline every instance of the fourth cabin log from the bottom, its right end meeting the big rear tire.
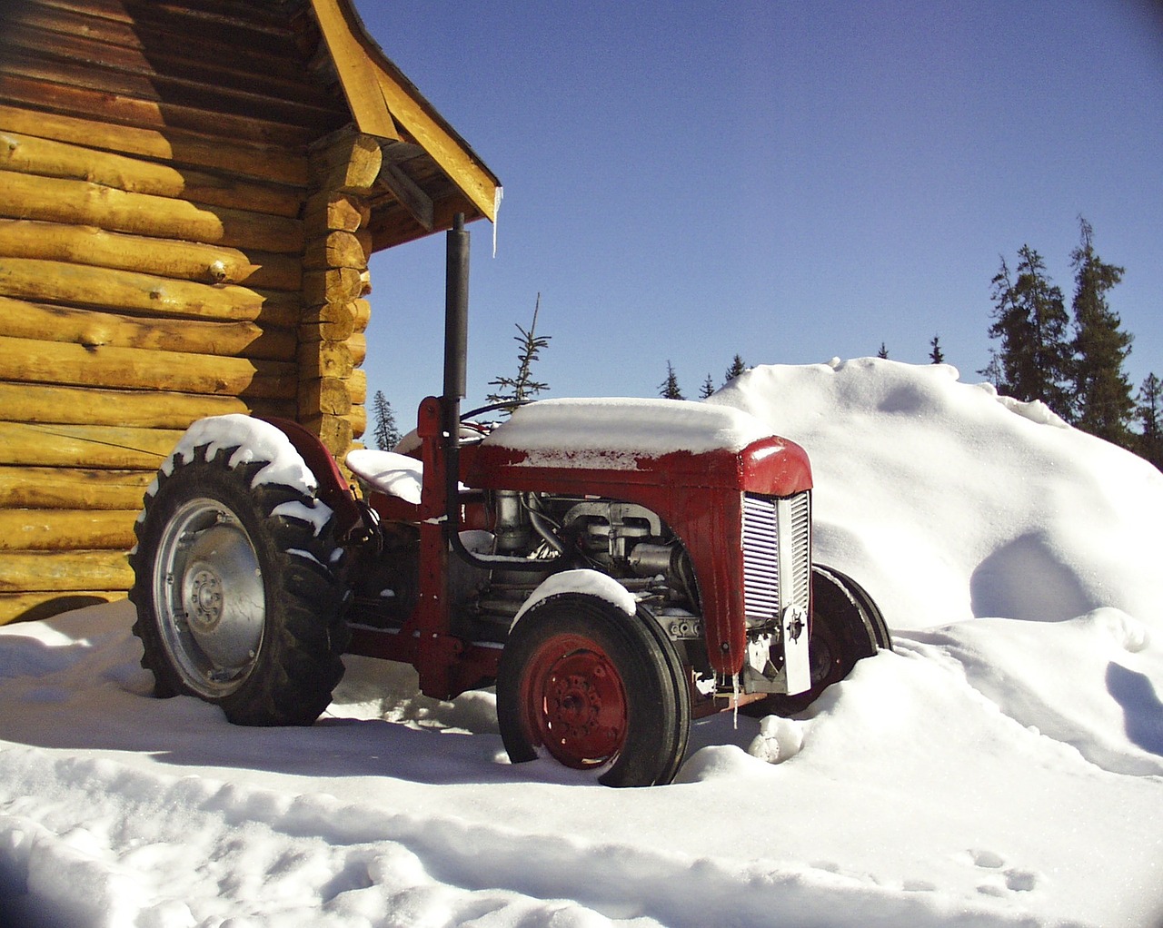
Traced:
<path fill-rule="evenodd" d="M 80 467 L 0 467 L 0 508 L 141 508 L 152 471 Z"/>

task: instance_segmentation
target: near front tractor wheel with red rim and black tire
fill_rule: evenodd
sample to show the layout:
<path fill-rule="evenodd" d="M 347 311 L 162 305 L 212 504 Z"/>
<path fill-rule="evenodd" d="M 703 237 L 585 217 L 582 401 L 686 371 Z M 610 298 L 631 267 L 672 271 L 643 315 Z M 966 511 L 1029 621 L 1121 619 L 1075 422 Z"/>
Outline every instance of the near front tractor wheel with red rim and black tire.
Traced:
<path fill-rule="evenodd" d="M 606 786 L 670 783 L 691 729 L 691 695 L 670 638 L 600 597 L 548 597 L 518 621 L 497 676 L 514 763 L 542 751 Z"/>

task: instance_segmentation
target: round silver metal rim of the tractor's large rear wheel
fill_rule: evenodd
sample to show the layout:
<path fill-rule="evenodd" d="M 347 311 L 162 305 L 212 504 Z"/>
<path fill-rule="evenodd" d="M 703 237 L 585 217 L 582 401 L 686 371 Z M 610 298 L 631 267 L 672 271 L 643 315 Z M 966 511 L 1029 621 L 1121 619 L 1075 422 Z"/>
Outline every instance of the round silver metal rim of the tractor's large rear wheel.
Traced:
<path fill-rule="evenodd" d="M 220 699 L 242 686 L 263 643 L 266 594 L 231 509 L 193 499 L 174 513 L 157 549 L 154 602 L 171 664 L 191 690 Z"/>

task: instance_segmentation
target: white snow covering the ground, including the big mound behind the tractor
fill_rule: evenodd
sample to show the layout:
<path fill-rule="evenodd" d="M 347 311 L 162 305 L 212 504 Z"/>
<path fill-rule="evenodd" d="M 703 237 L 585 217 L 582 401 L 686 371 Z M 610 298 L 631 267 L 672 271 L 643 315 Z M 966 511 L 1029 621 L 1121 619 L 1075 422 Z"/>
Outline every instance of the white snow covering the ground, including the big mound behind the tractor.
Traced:
<path fill-rule="evenodd" d="M 893 652 L 618 791 L 508 764 L 488 693 L 400 665 L 241 729 L 149 698 L 127 604 L 10 626 L 0 923 L 1163 926 L 1163 474 L 947 366 L 758 367 L 712 402 L 808 449 L 818 558 Z"/>

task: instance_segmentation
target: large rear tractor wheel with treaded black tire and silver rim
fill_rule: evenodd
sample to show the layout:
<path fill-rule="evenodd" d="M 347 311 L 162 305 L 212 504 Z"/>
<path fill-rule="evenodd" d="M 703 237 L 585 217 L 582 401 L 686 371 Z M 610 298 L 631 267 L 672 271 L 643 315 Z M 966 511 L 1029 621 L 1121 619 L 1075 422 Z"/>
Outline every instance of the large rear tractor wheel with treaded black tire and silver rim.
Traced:
<path fill-rule="evenodd" d="M 145 499 L 129 594 L 142 666 L 157 695 L 195 695 L 231 722 L 311 724 L 349 636 L 335 516 L 304 487 L 252 485 L 270 462 L 237 452 L 176 456 Z"/>

